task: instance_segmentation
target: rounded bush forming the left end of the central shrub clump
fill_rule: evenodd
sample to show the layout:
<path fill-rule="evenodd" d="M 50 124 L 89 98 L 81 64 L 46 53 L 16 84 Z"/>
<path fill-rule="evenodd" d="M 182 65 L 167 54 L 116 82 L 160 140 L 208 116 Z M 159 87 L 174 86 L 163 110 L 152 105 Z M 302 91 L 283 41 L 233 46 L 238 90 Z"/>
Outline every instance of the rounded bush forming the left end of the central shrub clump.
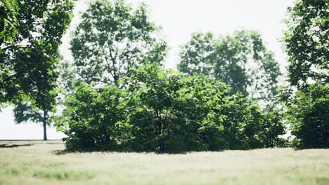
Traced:
<path fill-rule="evenodd" d="M 129 139 L 124 91 L 115 87 L 101 93 L 88 85 L 75 89 L 65 102 L 58 130 L 69 150 L 117 150 Z"/>

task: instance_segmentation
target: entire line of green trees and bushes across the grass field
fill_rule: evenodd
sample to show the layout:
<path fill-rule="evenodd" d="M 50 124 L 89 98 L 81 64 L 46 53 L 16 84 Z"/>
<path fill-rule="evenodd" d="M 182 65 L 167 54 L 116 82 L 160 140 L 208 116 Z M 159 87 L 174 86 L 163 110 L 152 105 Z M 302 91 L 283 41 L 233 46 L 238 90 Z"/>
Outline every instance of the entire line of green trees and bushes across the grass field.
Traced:
<path fill-rule="evenodd" d="M 328 148 L 328 2 L 295 1 L 282 42 L 288 85 L 252 30 L 194 33 L 179 71 L 146 4 L 92 1 L 58 54 L 74 1 L 1 0 L 0 103 L 16 123 L 55 123 L 70 150 Z M 259 106 L 264 104 L 265 106 Z M 56 106 L 64 111 L 56 116 Z M 280 135 L 292 131 L 289 142 Z"/>

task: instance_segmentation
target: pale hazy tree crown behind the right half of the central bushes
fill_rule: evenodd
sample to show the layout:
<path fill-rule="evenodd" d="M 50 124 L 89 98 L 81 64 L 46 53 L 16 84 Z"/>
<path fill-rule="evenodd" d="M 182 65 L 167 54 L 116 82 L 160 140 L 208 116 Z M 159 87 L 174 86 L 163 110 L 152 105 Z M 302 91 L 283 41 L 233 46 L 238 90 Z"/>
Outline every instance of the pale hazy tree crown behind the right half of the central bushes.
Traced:
<path fill-rule="evenodd" d="M 231 85 L 233 94 L 275 100 L 280 69 L 257 32 L 241 30 L 219 39 L 212 33 L 195 33 L 180 55 L 179 71 L 213 76 Z"/>

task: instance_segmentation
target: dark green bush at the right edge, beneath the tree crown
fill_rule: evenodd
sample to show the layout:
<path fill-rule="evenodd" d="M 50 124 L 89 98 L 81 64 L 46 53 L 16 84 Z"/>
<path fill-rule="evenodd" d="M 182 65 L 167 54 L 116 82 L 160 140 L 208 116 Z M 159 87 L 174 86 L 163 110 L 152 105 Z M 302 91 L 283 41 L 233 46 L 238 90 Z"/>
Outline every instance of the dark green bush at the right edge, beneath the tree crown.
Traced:
<path fill-rule="evenodd" d="M 298 148 L 329 148 L 329 85 L 314 83 L 288 104 L 288 124 Z"/>

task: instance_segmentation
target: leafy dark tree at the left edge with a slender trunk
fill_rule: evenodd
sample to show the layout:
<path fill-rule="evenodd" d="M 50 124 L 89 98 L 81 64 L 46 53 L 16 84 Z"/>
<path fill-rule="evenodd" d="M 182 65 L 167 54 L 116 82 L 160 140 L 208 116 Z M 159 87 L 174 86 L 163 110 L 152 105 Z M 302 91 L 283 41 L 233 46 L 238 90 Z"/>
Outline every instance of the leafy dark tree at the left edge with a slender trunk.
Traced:
<path fill-rule="evenodd" d="M 43 111 L 44 139 L 56 98 L 58 46 L 70 24 L 73 6 L 68 0 L 17 1 L 17 34 L 14 39 L 1 40 L 0 102 L 16 104 L 18 123 L 29 119 L 30 114 L 22 116 L 22 110 Z M 34 117 L 31 119 L 36 120 Z"/>

